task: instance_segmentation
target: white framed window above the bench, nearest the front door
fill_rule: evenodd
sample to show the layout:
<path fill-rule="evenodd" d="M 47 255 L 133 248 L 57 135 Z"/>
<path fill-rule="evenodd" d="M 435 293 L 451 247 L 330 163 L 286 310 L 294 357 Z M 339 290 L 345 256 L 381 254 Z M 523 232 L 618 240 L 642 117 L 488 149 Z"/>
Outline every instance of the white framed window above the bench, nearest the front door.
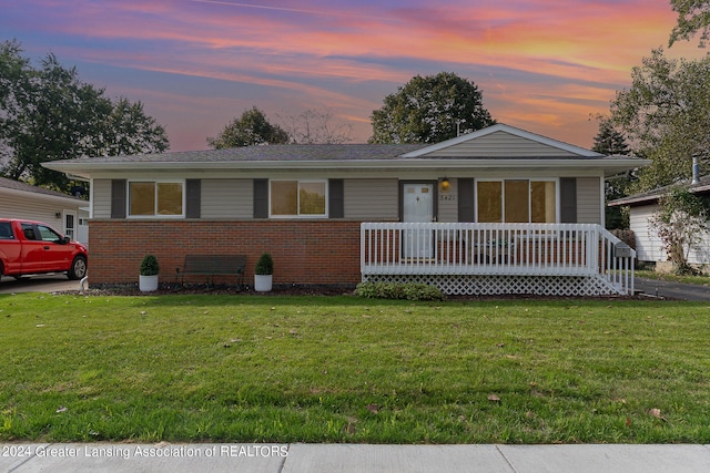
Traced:
<path fill-rule="evenodd" d="M 270 181 L 272 217 L 327 217 L 327 181 Z"/>

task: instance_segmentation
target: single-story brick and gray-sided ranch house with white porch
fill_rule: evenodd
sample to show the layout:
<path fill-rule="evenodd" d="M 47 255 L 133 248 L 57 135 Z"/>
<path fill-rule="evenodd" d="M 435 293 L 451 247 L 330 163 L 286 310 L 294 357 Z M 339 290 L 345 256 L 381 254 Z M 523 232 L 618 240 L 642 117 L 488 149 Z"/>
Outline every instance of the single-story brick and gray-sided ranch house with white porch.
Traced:
<path fill-rule="evenodd" d="M 617 280 L 628 256 L 612 257 L 618 239 L 604 229 L 604 179 L 647 163 L 497 124 L 435 145 L 262 145 L 45 166 L 91 182 L 92 285 L 134 282 L 148 253 L 169 282 L 187 253 L 246 255 L 250 281 L 268 251 L 275 285 L 584 295 L 629 289 Z"/>

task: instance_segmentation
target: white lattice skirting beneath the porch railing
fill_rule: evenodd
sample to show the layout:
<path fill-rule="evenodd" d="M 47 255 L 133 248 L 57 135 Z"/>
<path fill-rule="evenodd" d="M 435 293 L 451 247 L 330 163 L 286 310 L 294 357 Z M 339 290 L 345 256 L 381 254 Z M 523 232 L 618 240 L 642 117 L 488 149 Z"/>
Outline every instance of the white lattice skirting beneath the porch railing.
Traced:
<path fill-rule="evenodd" d="M 608 296 L 619 294 L 602 278 L 590 276 L 367 275 L 363 277 L 363 281 L 427 284 L 438 287 L 449 296 L 494 296 L 506 294 Z"/>

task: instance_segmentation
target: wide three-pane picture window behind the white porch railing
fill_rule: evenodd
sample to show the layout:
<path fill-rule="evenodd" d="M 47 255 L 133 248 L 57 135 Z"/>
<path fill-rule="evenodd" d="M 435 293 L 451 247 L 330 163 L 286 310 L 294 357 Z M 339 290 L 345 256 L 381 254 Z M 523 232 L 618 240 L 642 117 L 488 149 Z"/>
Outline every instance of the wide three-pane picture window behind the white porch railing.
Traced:
<path fill-rule="evenodd" d="M 480 223 L 554 224 L 557 222 L 557 183 L 478 181 L 476 203 Z"/>

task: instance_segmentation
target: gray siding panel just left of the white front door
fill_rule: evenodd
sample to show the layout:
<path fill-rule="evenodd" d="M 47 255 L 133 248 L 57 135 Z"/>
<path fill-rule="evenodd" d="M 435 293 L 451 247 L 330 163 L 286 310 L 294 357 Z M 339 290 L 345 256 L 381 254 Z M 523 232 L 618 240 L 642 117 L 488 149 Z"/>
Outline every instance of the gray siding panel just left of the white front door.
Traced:
<path fill-rule="evenodd" d="M 397 179 L 345 179 L 345 218 L 396 220 L 398 202 Z"/>

